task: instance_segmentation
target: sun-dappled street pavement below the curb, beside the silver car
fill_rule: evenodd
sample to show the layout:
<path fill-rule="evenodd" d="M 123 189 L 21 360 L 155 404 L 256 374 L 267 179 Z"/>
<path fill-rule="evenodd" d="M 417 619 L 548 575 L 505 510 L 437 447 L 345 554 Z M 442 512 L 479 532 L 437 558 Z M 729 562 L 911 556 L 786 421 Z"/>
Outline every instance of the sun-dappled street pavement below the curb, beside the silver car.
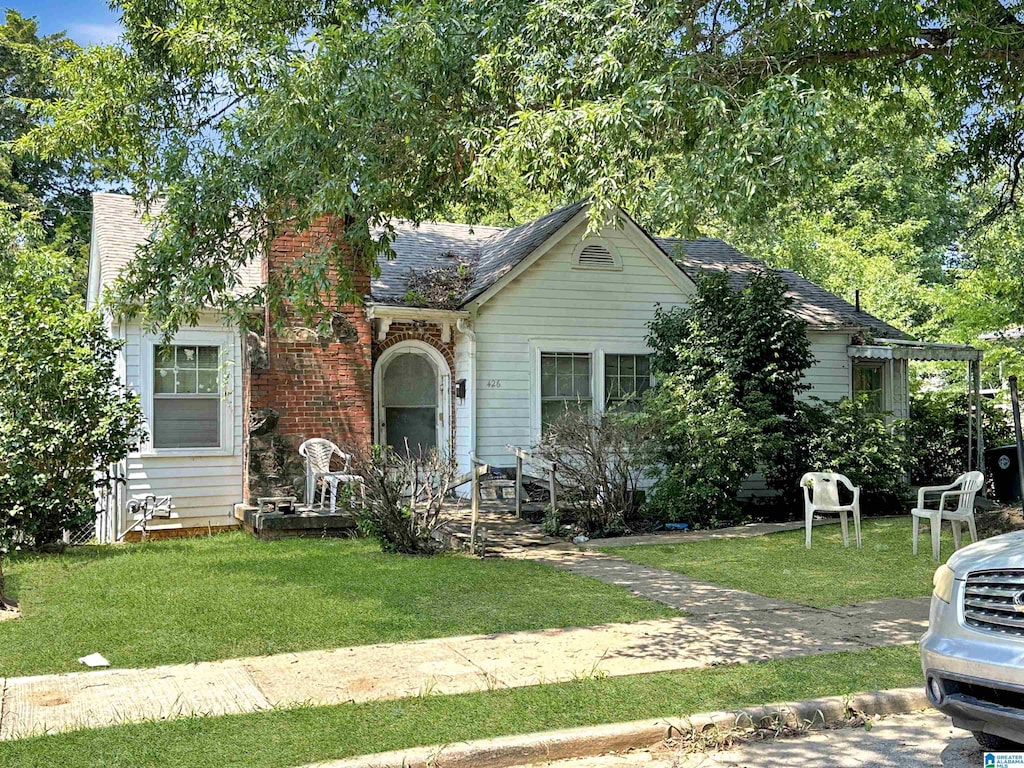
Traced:
<path fill-rule="evenodd" d="M 981 768 L 982 752 L 967 731 L 936 712 L 896 715 L 863 727 L 811 731 L 750 741 L 718 753 L 678 749 L 544 764 L 549 768 Z"/>

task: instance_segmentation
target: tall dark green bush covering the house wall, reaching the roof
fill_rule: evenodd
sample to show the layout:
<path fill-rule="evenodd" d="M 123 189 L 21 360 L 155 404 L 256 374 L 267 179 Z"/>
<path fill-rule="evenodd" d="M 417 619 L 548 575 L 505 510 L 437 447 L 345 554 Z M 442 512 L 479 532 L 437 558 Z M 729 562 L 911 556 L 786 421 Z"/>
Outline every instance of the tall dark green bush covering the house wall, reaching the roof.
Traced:
<path fill-rule="evenodd" d="M 743 479 L 787 450 L 814 358 L 785 294 L 768 270 L 739 291 L 716 274 L 698 282 L 688 307 L 655 311 L 647 343 L 659 382 L 644 402 L 658 434 L 662 473 L 647 505 L 655 518 L 738 522 Z"/>

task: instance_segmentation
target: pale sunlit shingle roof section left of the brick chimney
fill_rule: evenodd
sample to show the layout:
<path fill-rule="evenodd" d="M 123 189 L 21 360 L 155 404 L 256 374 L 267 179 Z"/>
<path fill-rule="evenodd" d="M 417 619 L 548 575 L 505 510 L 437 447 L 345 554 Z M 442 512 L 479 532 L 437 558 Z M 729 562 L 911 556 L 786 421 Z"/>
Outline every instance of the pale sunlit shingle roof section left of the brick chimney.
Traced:
<path fill-rule="evenodd" d="M 135 200 L 127 195 L 93 193 L 92 231 L 99 253 L 99 293 L 135 258 L 135 250 L 153 234 L 153 224 L 144 220 Z M 262 284 L 261 261 L 239 270 L 241 292 Z"/>

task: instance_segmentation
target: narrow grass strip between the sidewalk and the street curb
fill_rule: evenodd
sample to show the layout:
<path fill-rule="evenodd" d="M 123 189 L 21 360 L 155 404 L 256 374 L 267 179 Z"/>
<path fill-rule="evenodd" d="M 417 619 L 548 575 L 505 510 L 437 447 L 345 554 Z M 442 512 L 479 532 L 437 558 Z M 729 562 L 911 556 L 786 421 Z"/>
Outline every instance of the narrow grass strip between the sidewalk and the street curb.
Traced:
<path fill-rule="evenodd" d="M 876 648 L 461 695 L 122 725 L 3 742 L 0 765 L 285 768 L 414 745 L 920 683 L 916 648 Z"/>

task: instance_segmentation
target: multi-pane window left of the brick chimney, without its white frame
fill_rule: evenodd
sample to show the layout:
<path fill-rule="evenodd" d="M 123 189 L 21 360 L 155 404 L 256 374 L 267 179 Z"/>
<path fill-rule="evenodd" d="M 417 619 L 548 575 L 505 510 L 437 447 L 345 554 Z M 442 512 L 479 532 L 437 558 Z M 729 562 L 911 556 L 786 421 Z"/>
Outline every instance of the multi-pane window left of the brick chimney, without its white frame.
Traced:
<path fill-rule="evenodd" d="M 220 445 L 220 348 L 162 344 L 153 353 L 153 446 Z"/>

